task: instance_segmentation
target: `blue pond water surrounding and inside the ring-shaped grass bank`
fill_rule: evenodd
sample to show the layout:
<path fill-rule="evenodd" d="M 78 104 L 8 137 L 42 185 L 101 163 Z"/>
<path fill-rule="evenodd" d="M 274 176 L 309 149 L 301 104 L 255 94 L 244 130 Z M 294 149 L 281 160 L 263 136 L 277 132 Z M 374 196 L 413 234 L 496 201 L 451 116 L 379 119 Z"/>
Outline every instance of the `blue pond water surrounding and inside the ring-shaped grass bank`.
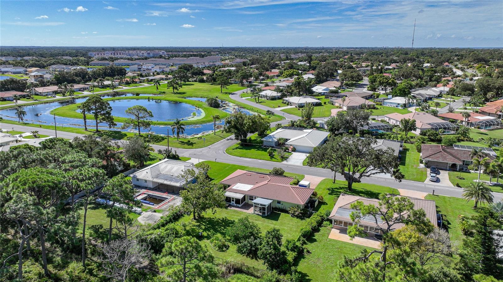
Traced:
<path fill-rule="evenodd" d="M 108 98 L 108 97 L 117 97 L 117 96 L 132 96 L 132 94 L 127 93 L 127 94 L 114 94 L 114 95 L 104 95 L 102 96 L 103 98 Z M 155 95 L 151 94 L 140 94 L 140 96 L 149 96 L 151 97 L 150 100 L 147 99 L 139 99 L 139 100 L 134 100 L 134 99 L 123 99 L 123 100 L 112 100 L 109 101 L 110 105 L 112 106 L 112 114 L 114 116 L 121 116 L 121 117 L 129 117 L 126 115 L 125 110 L 128 107 L 134 106 L 134 105 L 142 105 L 145 106 L 147 109 L 152 111 L 153 118 L 151 118 L 154 121 L 172 121 L 175 120 L 176 118 L 180 118 L 182 120 L 187 120 L 191 118 L 193 115 L 192 113 L 195 112 L 196 116 L 200 116 L 203 112 L 201 109 L 197 108 L 196 106 L 187 104 L 187 103 L 178 103 L 178 102 L 170 102 L 170 101 L 160 101 L 160 100 L 154 100 Z M 25 106 L 24 109 L 26 111 L 26 116 L 25 116 L 25 121 L 26 122 L 31 122 L 31 123 L 39 123 L 39 124 L 54 124 L 54 116 L 50 114 L 50 111 L 69 104 L 74 104 L 74 103 L 81 103 L 85 101 L 87 98 L 78 98 L 74 99 L 73 101 L 57 101 L 57 102 L 51 102 L 51 103 L 44 103 L 44 104 L 38 104 L 38 105 L 33 105 L 33 106 Z M 190 100 L 198 100 L 198 101 L 206 101 L 206 98 L 187 98 Z M 223 101 L 224 102 L 224 101 Z M 224 102 L 225 103 L 225 102 Z M 226 112 L 233 112 L 234 108 L 233 105 L 226 103 L 224 107 L 221 108 L 221 110 L 226 111 Z M 239 109 L 241 112 L 244 112 L 245 114 L 253 114 L 249 112 L 248 110 L 245 109 Z M 11 120 L 18 120 L 16 116 L 16 109 L 5 109 L 0 111 L 0 116 L 2 116 L 5 119 L 11 119 Z M 69 127 L 79 127 L 83 128 L 83 120 L 78 119 L 78 118 L 69 118 L 69 117 L 60 117 L 56 116 L 56 124 L 58 126 L 69 126 Z M 89 120 L 87 121 L 88 127 L 89 128 L 94 128 L 96 126 L 96 123 L 94 120 Z M 224 121 L 220 121 L 217 123 L 217 125 L 223 125 Z M 127 129 L 121 129 L 121 123 L 118 122 L 115 130 L 121 130 L 121 131 L 133 131 L 136 132 L 135 129 L 132 128 L 127 128 Z M 108 125 L 104 123 L 99 123 L 99 127 L 102 129 L 108 129 Z M 185 126 L 185 135 L 194 135 L 194 134 L 201 134 L 205 132 L 209 132 L 213 130 L 213 122 L 209 123 L 204 123 L 204 124 L 194 124 L 194 125 L 186 125 Z M 150 131 L 156 134 L 170 134 L 173 135 L 173 132 L 171 132 L 171 127 L 165 126 L 165 125 L 152 125 L 150 130 L 144 130 L 144 131 Z"/>

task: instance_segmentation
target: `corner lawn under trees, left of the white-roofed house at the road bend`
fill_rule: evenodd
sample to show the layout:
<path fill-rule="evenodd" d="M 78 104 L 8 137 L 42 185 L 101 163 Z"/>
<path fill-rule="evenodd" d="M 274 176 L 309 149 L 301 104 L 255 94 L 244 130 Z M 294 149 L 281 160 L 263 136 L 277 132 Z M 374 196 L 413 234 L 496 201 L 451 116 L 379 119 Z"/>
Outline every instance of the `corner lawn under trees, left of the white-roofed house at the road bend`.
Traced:
<path fill-rule="evenodd" d="M 267 133 L 270 132 L 272 132 L 272 130 L 269 130 Z M 267 154 L 267 150 L 269 150 L 269 148 L 262 147 L 261 139 L 262 137 L 258 136 L 257 133 L 255 133 L 250 137 L 248 137 L 248 140 L 246 141 L 247 144 L 243 145 L 240 142 L 234 144 L 229 148 L 227 148 L 225 150 L 225 153 L 236 157 L 251 158 L 272 162 L 282 162 L 282 160 L 276 154 L 275 149 L 273 149 L 273 151 L 275 152 L 273 156 L 270 157 Z M 292 153 L 287 153 L 286 155 L 290 157 Z"/>

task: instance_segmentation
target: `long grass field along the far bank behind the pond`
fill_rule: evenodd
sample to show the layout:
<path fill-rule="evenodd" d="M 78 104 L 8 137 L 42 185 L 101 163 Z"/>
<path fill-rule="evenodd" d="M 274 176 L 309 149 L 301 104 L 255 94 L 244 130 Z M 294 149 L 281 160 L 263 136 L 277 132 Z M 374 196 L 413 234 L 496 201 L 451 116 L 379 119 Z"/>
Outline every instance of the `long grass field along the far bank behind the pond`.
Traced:
<path fill-rule="evenodd" d="M 266 111 L 249 106 L 245 103 L 241 103 L 238 101 L 235 101 L 234 99 L 231 99 L 229 97 L 229 94 L 231 92 L 235 92 L 237 90 L 242 90 L 245 89 L 242 86 L 236 85 L 236 84 L 231 84 L 227 86 L 227 89 L 222 89 L 222 93 L 220 92 L 220 86 L 218 85 L 212 85 L 210 83 L 199 83 L 199 82 L 188 82 L 184 83 L 183 87 L 180 88 L 175 94 L 172 93 L 171 89 L 166 89 L 163 87 L 159 87 L 159 92 L 155 90 L 155 86 L 146 86 L 146 87 L 140 87 L 140 88 L 135 88 L 134 91 L 132 89 L 124 89 L 124 90 L 119 90 L 122 92 L 134 92 L 134 93 L 161 93 L 164 92 L 163 94 L 166 97 L 203 97 L 203 98 L 209 98 L 209 97 L 216 97 L 221 100 L 228 101 L 230 103 L 239 105 L 239 107 L 248 109 L 254 112 L 258 112 L 260 114 L 265 115 Z M 271 122 L 278 121 L 284 119 L 284 117 L 280 115 L 274 115 L 269 117 Z"/>

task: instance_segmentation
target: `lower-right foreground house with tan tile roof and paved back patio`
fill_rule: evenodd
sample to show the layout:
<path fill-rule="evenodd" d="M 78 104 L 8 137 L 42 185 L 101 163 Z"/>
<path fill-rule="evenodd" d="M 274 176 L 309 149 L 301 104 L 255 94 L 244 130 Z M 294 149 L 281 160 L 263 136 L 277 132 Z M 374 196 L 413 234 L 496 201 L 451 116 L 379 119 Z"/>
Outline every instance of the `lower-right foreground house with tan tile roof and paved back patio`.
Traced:
<path fill-rule="evenodd" d="M 395 197 L 405 197 L 405 196 L 395 196 Z M 438 226 L 437 223 L 437 209 L 435 206 L 435 201 L 433 200 L 424 200 L 418 198 L 407 197 L 410 199 L 412 203 L 414 203 L 414 209 L 423 209 L 426 213 L 426 218 L 433 224 L 433 226 Z M 354 196 L 347 195 L 342 193 L 341 196 L 337 199 L 336 205 L 333 207 L 332 212 L 330 213 L 329 219 L 332 220 L 332 228 L 346 230 L 348 226 L 353 226 L 356 224 L 351 220 L 351 213 L 356 211 L 351 208 L 351 204 L 356 203 L 357 201 L 361 201 L 364 204 L 372 204 L 377 208 L 383 209 L 383 207 L 379 207 L 379 200 L 365 198 L 362 196 Z M 382 236 L 384 234 L 381 233 L 379 227 L 386 229 L 386 224 L 382 222 L 380 218 L 375 219 L 374 217 L 364 217 L 358 223 L 358 226 L 363 228 L 365 232 L 368 233 L 369 236 Z M 405 224 L 398 223 L 395 224 L 395 228 L 399 229 L 404 227 Z"/>

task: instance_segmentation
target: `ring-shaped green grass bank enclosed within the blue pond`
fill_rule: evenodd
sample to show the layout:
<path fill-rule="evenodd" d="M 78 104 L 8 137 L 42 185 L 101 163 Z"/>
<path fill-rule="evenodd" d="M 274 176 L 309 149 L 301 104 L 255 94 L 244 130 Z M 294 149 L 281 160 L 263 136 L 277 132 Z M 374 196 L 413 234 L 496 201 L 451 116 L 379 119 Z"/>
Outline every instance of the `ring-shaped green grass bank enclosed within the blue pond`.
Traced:
<path fill-rule="evenodd" d="M 205 102 L 202 101 L 197 101 L 197 100 L 190 100 L 190 99 L 184 99 L 180 97 L 174 97 L 174 96 L 129 96 L 129 97 L 112 97 L 112 98 L 105 98 L 104 100 L 110 101 L 110 100 L 163 100 L 163 101 L 172 101 L 172 102 L 182 102 L 182 103 L 187 103 L 190 105 L 193 105 L 195 107 L 200 108 L 201 110 L 204 111 L 204 116 L 202 116 L 199 119 L 191 119 L 191 120 L 183 120 L 183 124 L 202 124 L 202 123 L 208 123 L 212 122 L 213 118 L 211 117 L 212 115 L 220 115 L 220 118 L 225 118 L 229 115 L 229 113 L 224 112 L 220 109 L 217 108 L 212 108 L 206 105 Z M 55 108 L 51 110 L 51 113 L 56 114 L 57 116 L 63 116 L 63 117 L 71 117 L 71 118 L 82 118 L 82 114 L 80 112 L 77 112 L 77 108 L 80 105 L 80 103 L 76 104 L 70 104 L 62 107 Z M 87 115 L 89 120 L 93 120 L 93 115 L 88 114 Z M 114 116 L 114 120 L 116 122 L 124 122 L 127 118 L 125 117 L 117 117 Z M 156 125 L 169 125 L 173 124 L 173 121 L 159 121 L 159 120 L 153 120 L 152 124 Z"/>

